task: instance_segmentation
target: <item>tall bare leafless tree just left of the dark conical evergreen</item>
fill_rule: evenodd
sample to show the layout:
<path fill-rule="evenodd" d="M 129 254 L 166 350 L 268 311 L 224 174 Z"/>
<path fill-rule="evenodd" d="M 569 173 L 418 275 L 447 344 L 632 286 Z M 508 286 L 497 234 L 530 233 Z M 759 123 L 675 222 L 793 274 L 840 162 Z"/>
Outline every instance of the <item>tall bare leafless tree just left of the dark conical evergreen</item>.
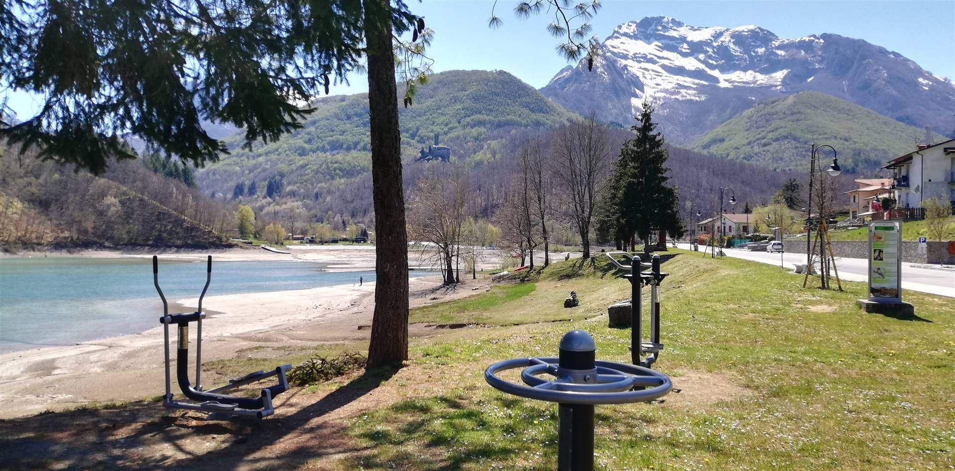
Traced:
<path fill-rule="evenodd" d="M 594 114 L 554 131 L 551 147 L 556 194 L 565 216 L 577 228 L 590 257 L 590 225 L 601 185 L 610 168 L 610 133 Z"/>

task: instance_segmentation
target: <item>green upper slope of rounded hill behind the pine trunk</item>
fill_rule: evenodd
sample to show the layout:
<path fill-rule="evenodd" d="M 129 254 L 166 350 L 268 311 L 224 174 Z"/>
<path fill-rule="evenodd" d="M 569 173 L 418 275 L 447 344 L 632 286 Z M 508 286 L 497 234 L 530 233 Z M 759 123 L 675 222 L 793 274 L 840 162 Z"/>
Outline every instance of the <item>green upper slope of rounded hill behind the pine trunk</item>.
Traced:
<path fill-rule="evenodd" d="M 281 178 L 283 195 L 322 200 L 366 174 L 371 163 L 367 94 L 318 99 L 302 129 L 252 151 L 226 139 L 233 153 L 199 172 L 206 193 L 231 196 L 236 183 Z M 490 160 L 493 142 L 514 128 L 545 128 L 572 115 L 530 85 L 505 72 L 451 71 L 419 86 L 414 106 L 401 108 L 402 154 L 406 160 L 435 143 L 452 148 L 452 160 Z"/>

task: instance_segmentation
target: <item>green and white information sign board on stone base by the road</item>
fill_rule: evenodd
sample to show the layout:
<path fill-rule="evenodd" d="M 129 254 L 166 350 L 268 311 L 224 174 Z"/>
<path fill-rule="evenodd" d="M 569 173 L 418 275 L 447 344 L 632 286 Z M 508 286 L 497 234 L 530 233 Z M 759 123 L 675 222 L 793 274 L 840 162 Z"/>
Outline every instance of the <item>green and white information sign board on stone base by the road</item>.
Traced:
<path fill-rule="evenodd" d="M 868 258 L 868 299 L 859 299 L 859 307 L 892 316 L 915 315 L 915 308 L 902 301 L 902 223 L 869 223 Z"/>

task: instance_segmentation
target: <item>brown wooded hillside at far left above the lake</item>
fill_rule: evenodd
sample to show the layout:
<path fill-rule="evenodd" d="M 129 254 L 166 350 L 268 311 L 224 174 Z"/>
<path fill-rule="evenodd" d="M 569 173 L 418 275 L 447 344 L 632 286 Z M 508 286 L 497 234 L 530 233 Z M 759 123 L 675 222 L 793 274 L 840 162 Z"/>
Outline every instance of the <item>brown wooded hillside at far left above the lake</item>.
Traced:
<path fill-rule="evenodd" d="M 94 177 L 0 146 L 0 246 L 223 245 L 231 204 L 162 175 L 174 163 L 118 161 Z"/>

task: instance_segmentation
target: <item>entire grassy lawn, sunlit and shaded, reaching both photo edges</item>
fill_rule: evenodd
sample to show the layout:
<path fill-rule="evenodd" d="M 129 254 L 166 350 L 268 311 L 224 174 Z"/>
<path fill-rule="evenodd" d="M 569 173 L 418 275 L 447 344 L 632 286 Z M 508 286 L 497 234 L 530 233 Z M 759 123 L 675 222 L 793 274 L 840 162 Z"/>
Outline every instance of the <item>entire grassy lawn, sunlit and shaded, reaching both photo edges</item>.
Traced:
<path fill-rule="evenodd" d="M 801 277 L 773 266 L 669 253 L 678 255 L 663 266 L 666 347 L 654 367 L 682 392 L 598 406 L 598 469 L 955 466 L 951 298 L 906 291 L 919 317 L 895 319 L 856 308 L 860 283 L 802 289 Z M 29 449 L 39 467 L 104 467 L 111 457 L 134 468 L 555 469 L 557 405 L 500 393 L 483 372 L 505 358 L 554 356 L 572 329 L 593 335 L 598 358 L 626 362 L 629 330 L 595 316 L 627 297 L 618 275 L 605 259 L 560 262 L 413 310 L 414 322 L 483 326 L 415 337 L 398 372 L 293 389 L 252 428 L 168 417 L 155 404 L 0 421 L 0 467 Z M 566 310 L 570 290 L 581 307 Z M 573 320 L 541 322 L 562 318 Z"/>

